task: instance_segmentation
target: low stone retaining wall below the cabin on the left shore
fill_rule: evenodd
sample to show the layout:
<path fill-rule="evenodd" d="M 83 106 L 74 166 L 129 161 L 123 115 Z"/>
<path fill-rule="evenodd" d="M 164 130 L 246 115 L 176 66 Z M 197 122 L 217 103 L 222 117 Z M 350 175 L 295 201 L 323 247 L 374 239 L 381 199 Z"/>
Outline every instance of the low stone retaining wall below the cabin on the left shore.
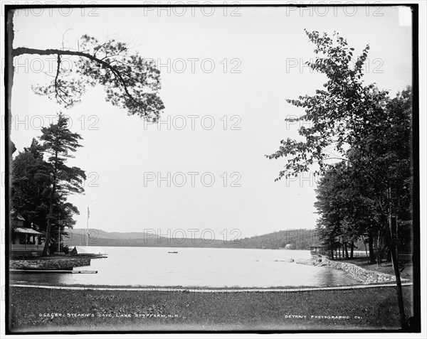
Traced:
<path fill-rule="evenodd" d="M 9 261 L 9 269 L 70 269 L 80 266 L 90 266 L 90 258 Z"/>

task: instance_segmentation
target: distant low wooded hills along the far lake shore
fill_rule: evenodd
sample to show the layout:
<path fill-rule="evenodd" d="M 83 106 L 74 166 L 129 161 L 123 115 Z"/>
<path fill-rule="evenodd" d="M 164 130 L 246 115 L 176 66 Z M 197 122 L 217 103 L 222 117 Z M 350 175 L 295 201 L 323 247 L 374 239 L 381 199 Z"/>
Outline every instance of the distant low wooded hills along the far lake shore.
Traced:
<path fill-rule="evenodd" d="M 68 239 L 63 243 L 70 246 L 86 244 L 86 230 L 68 230 Z M 117 246 L 117 247 L 223 247 L 223 248 L 253 248 L 253 249 L 310 249 L 310 244 L 317 243 L 315 230 L 282 230 L 246 237 L 234 241 L 211 239 L 183 239 L 157 237 L 144 232 L 105 232 L 90 229 L 88 244 L 90 246 Z"/>

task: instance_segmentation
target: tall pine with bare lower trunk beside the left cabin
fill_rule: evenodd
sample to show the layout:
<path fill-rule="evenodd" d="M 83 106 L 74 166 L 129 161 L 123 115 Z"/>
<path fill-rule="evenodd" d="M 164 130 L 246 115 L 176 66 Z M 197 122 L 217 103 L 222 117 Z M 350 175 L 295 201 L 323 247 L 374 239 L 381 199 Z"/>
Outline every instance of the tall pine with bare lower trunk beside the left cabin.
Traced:
<path fill-rule="evenodd" d="M 59 114 L 56 124 L 51 124 L 49 127 L 41 129 L 42 135 L 40 139 L 43 141 L 43 150 L 49 155 L 47 159 L 49 176 L 46 179 L 51 184 L 49 192 L 49 214 L 46 225 L 46 243 L 43 255 L 48 255 L 51 243 L 51 228 L 53 221 L 55 221 L 53 215 L 54 205 L 56 203 L 63 203 L 63 198 L 70 193 L 84 192 L 82 183 L 86 178 L 85 171 L 78 167 L 69 167 L 65 164 L 68 158 L 74 158 L 71 153 L 75 152 L 78 147 L 81 147 L 79 141 L 82 139 L 79 134 L 72 133 L 67 125 L 68 118 L 63 116 L 63 114 Z M 68 215 L 78 212 L 76 208 L 66 203 L 63 205 L 62 210 Z M 73 222 L 70 222 L 67 215 L 60 218 L 60 220 L 63 220 L 62 226 L 73 225 Z M 56 228 L 60 229 L 60 226 L 56 225 Z"/>

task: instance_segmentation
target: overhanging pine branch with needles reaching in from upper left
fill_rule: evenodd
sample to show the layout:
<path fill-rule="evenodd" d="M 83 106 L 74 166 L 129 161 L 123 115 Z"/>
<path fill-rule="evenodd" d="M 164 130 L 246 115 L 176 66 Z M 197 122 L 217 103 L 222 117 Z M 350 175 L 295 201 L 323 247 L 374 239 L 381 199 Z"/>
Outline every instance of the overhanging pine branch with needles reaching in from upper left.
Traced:
<path fill-rule="evenodd" d="M 13 55 L 56 55 L 53 80 L 33 86 L 38 95 L 47 95 L 65 107 L 72 107 L 80 102 L 88 86 L 102 85 L 108 102 L 127 109 L 130 115 L 157 122 L 164 104 L 158 95 L 160 71 L 154 60 L 145 60 L 126 43 L 114 39 L 102 43 L 84 35 L 78 46 L 78 50 L 18 47 L 14 48 Z M 73 67 L 63 62 L 65 56 L 72 58 Z"/>

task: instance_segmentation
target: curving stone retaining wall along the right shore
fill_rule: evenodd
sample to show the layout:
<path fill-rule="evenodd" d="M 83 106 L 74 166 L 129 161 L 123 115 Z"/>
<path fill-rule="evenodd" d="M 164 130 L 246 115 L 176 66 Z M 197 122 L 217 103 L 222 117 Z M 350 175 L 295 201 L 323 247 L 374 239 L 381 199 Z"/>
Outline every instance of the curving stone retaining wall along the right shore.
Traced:
<path fill-rule="evenodd" d="M 396 276 L 391 274 L 385 274 L 381 272 L 369 271 L 368 269 L 363 269 L 355 264 L 350 264 L 348 262 L 334 262 L 330 259 L 322 257 L 322 259 L 314 260 L 299 260 L 297 264 L 306 264 L 314 266 L 323 266 L 330 267 L 332 269 L 341 269 L 344 271 L 347 276 L 357 281 L 361 281 L 362 284 L 375 284 L 375 283 L 387 283 L 396 281 Z M 401 279 L 402 282 L 408 281 L 408 279 Z"/>

